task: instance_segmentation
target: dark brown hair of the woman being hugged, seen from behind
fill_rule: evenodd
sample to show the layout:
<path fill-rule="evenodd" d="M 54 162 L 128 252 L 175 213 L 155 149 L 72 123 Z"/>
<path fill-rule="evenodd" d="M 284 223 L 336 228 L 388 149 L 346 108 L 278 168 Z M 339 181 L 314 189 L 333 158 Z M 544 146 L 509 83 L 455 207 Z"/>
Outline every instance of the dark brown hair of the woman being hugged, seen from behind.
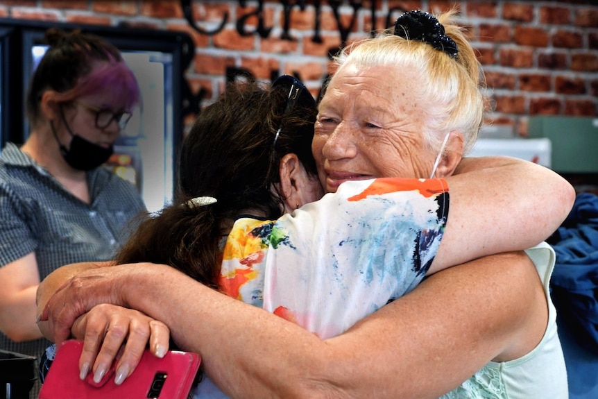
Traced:
<path fill-rule="evenodd" d="M 309 99 L 284 112 L 288 92 L 284 85 L 268 91 L 255 83 L 237 83 L 201 112 L 182 143 L 173 205 L 142 222 L 117 256 L 119 264 L 169 264 L 218 288 L 220 241 L 228 233 L 223 226 L 248 210 L 269 219 L 282 214 L 282 197 L 272 185 L 280 180 L 282 156 L 296 153 L 316 175 L 311 155 L 316 106 L 305 91 Z M 187 205 L 197 196 L 218 202 Z"/>

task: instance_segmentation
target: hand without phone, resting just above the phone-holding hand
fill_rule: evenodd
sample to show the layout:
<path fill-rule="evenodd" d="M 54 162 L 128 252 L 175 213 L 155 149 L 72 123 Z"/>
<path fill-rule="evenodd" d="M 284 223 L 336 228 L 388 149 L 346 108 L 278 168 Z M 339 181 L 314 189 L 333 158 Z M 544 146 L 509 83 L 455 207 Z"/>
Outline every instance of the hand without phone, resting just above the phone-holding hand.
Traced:
<path fill-rule="evenodd" d="M 119 279 L 126 280 L 135 269 L 137 264 L 106 266 L 80 271 L 69 278 L 43 307 L 37 321 L 40 330 L 48 339 L 60 344 L 69 338 L 74 321 L 95 305 L 112 303 L 126 307 L 117 283 Z"/>

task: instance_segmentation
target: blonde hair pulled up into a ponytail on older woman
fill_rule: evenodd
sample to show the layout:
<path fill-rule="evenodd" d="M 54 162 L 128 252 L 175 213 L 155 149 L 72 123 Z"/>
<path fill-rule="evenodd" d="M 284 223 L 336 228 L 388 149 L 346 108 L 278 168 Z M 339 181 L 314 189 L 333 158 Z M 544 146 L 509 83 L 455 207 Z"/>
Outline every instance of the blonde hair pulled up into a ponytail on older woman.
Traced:
<path fill-rule="evenodd" d="M 463 155 L 475 144 L 484 119 L 481 67 L 463 28 L 454 23 L 454 10 L 439 15 L 445 33 L 459 47 L 456 59 L 419 40 L 407 40 L 384 31 L 345 47 L 336 57 L 337 72 L 348 65 L 388 67 L 399 72 L 408 68 L 419 77 L 413 97 L 432 104 L 422 107 L 425 142 L 438 151 L 444 137 L 458 131 L 463 135 Z"/>

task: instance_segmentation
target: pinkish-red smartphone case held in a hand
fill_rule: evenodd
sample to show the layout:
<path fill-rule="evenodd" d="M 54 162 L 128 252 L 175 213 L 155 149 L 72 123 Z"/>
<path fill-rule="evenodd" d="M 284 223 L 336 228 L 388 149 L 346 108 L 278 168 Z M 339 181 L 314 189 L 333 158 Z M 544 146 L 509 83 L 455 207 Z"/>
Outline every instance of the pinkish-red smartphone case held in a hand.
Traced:
<path fill-rule="evenodd" d="M 79 379 L 82 350 L 83 341 L 62 343 L 38 399 L 186 399 L 200 364 L 196 353 L 170 350 L 160 359 L 146 350 L 135 371 L 122 384 L 114 384 L 114 364 L 103 379 L 95 383 L 91 373 L 85 380 Z"/>

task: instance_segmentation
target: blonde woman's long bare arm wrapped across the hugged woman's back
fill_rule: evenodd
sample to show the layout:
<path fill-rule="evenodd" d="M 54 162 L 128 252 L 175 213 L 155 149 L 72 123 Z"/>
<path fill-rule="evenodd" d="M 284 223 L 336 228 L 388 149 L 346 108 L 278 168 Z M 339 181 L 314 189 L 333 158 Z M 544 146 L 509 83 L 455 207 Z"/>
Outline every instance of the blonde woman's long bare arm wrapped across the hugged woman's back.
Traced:
<path fill-rule="evenodd" d="M 73 309 L 86 310 L 93 290 L 164 321 L 233 398 L 438 397 L 490 359 L 529 351 L 544 332 L 538 317 L 546 317 L 536 270 L 520 253 L 437 273 L 327 341 L 168 266 L 114 266 L 69 287 L 73 307 L 53 314 L 54 328 L 70 325 Z M 63 303 L 61 294 L 51 302 Z"/>

